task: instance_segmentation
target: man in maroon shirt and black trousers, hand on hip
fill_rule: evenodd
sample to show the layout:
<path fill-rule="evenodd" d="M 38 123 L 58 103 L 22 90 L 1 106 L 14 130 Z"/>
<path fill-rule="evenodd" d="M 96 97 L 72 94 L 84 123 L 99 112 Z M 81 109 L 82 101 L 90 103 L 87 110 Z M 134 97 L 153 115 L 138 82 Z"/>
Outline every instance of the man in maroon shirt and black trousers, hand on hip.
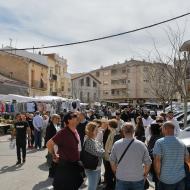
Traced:
<path fill-rule="evenodd" d="M 64 117 L 65 126 L 47 142 L 49 153 L 58 163 L 53 181 L 54 190 L 78 190 L 83 183 L 80 160 L 80 137 L 76 130 L 78 113 L 68 112 Z M 54 151 L 57 145 L 58 151 Z"/>

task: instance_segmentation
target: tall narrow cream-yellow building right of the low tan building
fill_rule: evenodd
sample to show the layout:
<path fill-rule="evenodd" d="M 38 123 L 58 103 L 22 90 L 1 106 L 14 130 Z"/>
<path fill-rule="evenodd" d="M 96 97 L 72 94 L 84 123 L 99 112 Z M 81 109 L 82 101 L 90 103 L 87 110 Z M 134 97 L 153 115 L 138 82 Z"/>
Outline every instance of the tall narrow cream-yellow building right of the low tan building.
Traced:
<path fill-rule="evenodd" d="M 67 60 L 57 54 L 44 54 L 48 57 L 48 92 L 53 96 L 71 97 L 71 75 L 67 72 Z"/>

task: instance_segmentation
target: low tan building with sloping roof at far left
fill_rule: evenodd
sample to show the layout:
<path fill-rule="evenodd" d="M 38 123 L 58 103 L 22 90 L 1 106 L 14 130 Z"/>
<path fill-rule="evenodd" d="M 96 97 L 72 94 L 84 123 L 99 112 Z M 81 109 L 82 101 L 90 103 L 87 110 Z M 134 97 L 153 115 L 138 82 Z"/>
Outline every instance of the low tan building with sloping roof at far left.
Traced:
<path fill-rule="evenodd" d="M 28 96 L 48 95 L 47 57 L 10 47 L 4 49 L 0 51 L 0 73 L 27 86 Z"/>

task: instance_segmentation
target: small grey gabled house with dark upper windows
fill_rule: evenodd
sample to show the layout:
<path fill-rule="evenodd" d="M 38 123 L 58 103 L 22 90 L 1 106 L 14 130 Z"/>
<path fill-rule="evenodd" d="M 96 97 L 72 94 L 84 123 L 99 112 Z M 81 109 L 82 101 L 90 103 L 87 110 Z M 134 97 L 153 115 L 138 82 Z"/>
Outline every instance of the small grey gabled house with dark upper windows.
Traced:
<path fill-rule="evenodd" d="M 72 77 L 72 97 L 84 103 L 100 100 L 100 81 L 90 73 Z"/>

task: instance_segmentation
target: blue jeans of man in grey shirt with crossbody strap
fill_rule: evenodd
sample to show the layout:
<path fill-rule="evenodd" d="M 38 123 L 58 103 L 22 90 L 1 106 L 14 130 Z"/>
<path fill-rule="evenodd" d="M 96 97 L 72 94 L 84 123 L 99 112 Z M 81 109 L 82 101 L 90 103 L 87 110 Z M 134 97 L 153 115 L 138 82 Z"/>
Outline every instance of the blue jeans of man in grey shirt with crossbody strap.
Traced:
<path fill-rule="evenodd" d="M 144 190 L 144 179 L 141 181 L 116 180 L 115 190 Z"/>

